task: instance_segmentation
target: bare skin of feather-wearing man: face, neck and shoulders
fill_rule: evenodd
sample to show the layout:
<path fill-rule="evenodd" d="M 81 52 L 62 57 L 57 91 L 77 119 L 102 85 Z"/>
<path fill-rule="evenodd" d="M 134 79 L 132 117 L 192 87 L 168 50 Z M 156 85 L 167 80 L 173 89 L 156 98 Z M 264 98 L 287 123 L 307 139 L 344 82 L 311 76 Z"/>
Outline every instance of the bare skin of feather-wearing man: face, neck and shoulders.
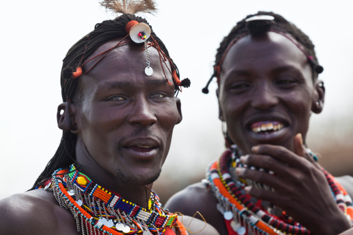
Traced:
<path fill-rule="evenodd" d="M 119 40 L 102 44 L 92 57 Z M 174 97 L 174 86 L 166 83 L 157 50 L 148 51 L 152 76 L 144 73 L 146 57 L 141 47 L 125 45 L 79 77 L 74 102 L 60 105 L 69 112 L 64 114 L 77 134 L 79 171 L 142 207 L 150 195 L 146 188 L 152 188 L 168 154 L 173 127 L 182 120 L 180 99 Z M 163 66 L 173 83 L 170 65 Z M 59 124 L 68 128 L 63 126 Z M 72 213 L 42 188 L 0 200 L 0 213 L 1 234 L 81 234 Z M 180 216 L 180 220 L 187 226 L 192 218 Z M 201 220 L 192 220 L 189 228 L 198 231 L 205 226 Z M 217 232 L 207 225 L 200 234 Z"/>

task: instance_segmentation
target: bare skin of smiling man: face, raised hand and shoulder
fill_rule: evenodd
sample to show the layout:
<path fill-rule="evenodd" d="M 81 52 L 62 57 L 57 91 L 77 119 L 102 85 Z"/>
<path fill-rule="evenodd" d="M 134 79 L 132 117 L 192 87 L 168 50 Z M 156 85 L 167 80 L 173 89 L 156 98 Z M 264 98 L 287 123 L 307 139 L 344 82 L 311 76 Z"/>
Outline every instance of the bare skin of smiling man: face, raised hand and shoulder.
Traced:
<path fill-rule="evenodd" d="M 240 148 L 242 163 L 278 176 L 237 168 L 241 177 L 275 190 L 246 187 L 247 193 L 281 207 L 313 234 L 334 235 L 349 229 L 350 222 L 303 144 L 311 112 L 320 113 L 324 104 L 320 83 L 313 81 L 306 56 L 287 38 L 272 32 L 258 38 L 248 35 L 231 47 L 222 64 L 219 119 L 226 122 L 228 136 Z M 279 128 L 256 130 L 269 123 Z M 347 178 L 342 182 L 348 185 Z M 347 188 L 351 190 L 352 184 Z M 199 183 L 171 197 L 166 208 L 186 215 L 200 211 L 220 234 L 227 234 L 216 205 L 216 198 Z"/>

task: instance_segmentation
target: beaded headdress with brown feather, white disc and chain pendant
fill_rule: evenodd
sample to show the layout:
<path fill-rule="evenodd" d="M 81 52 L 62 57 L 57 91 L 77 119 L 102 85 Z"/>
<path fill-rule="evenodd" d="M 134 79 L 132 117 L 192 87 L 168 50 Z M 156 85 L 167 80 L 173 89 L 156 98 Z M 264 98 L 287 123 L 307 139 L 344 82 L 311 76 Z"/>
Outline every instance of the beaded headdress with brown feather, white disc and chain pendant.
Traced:
<path fill-rule="evenodd" d="M 155 3 L 152 0 L 143 0 L 143 1 L 138 1 L 136 3 L 136 1 L 119 1 L 119 0 L 104 0 L 101 2 L 101 5 L 113 10 L 115 13 L 123 13 L 123 15 L 134 15 L 136 13 L 142 12 L 142 13 L 152 13 L 156 10 L 155 8 Z M 120 16 L 120 17 L 123 17 Z M 117 21 L 120 17 L 114 19 L 114 21 Z M 132 17 L 133 18 L 133 17 Z M 146 63 L 147 63 L 147 67 L 145 69 L 145 74 L 147 76 L 151 76 L 153 74 L 153 70 L 152 67 L 150 66 L 150 61 L 148 58 L 148 48 L 149 47 L 155 47 L 155 49 L 157 49 L 158 53 L 159 53 L 159 58 L 161 60 L 161 66 L 163 67 L 163 63 L 166 63 L 166 61 L 169 61 L 169 63 L 171 63 L 171 69 L 168 68 L 168 72 L 171 73 L 172 75 L 172 79 L 173 79 L 173 83 L 175 85 L 175 90 L 180 90 L 180 87 L 185 87 L 188 88 L 190 86 L 190 81 L 189 79 L 184 79 L 182 81 L 180 81 L 179 79 L 179 72 L 178 72 L 178 68 L 176 67 L 176 65 L 173 63 L 173 60 L 171 60 L 171 58 L 168 55 L 168 52 L 166 51 L 165 47 L 163 49 L 161 49 L 161 47 L 159 47 L 160 42 L 157 42 L 157 40 L 155 40 L 155 38 L 152 36 L 154 33 L 152 33 L 152 29 L 150 28 L 150 26 L 147 24 L 146 20 L 143 19 L 144 22 L 142 22 L 141 20 L 138 19 L 132 19 L 129 22 L 127 22 L 125 24 L 125 31 L 127 33 L 127 35 L 124 36 L 123 40 L 121 40 L 120 42 L 118 42 L 118 44 L 116 44 L 115 46 L 111 47 L 110 49 L 107 49 L 107 51 L 103 51 L 101 54 L 94 56 L 93 58 L 89 58 L 88 60 L 86 60 L 84 62 L 84 59 L 87 58 L 88 56 L 88 49 L 91 49 L 93 42 L 91 42 L 93 37 L 97 37 L 99 35 L 97 35 L 97 33 L 95 33 L 95 31 L 89 33 L 86 36 L 86 45 L 84 50 L 81 51 L 81 60 L 79 61 L 79 63 L 76 63 L 74 66 L 65 66 L 63 67 L 62 70 L 62 79 L 64 80 L 64 84 L 63 84 L 63 90 L 65 90 L 65 86 L 66 86 L 66 81 L 70 81 L 72 79 L 77 79 L 79 78 L 81 75 L 87 74 L 89 71 L 91 71 L 93 69 L 93 67 L 95 67 L 95 65 L 97 65 L 97 63 L 100 62 L 100 60 L 102 60 L 105 56 L 107 56 L 107 54 L 109 54 L 110 51 L 112 51 L 113 49 L 116 49 L 117 47 L 123 46 L 124 44 L 127 44 L 128 42 L 132 41 L 134 43 L 144 43 L 143 48 L 141 49 L 142 51 L 145 51 L 146 53 Z M 108 21 L 106 21 L 108 22 Z M 102 22 L 102 24 L 104 24 L 105 22 Z M 102 25 L 102 24 L 97 24 L 95 29 L 98 28 L 98 26 Z M 116 37 L 121 36 L 121 33 L 117 34 Z M 127 37 L 128 35 L 130 35 L 130 39 Z M 104 42 L 107 42 L 107 40 L 102 41 L 101 44 L 103 44 Z M 72 51 L 72 50 L 70 50 Z M 68 54 L 70 54 L 70 51 Z M 89 51 L 89 54 L 91 54 L 93 51 Z M 86 65 L 86 63 L 88 63 L 91 60 L 96 60 L 96 62 L 94 63 L 94 65 L 88 69 L 86 69 L 86 71 L 83 70 L 84 65 Z M 64 63 L 65 64 L 65 63 Z M 156 65 L 157 66 L 157 65 Z M 164 68 L 163 68 L 164 70 Z M 166 72 L 164 71 L 164 76 L 166 77 Z M 171 82 L 168 81 L 168 79 L 166 78 L 166 82 L 169 85 L 173 85 Z M 72 89 L 68 89 L 70 90 L 69 92 L 72 93 L 73 90 Z M 64 95 L 64 94 L 63 94 Z M 64 101 L 65 99 L 68 100 L 71 98 L 72 95 L 68 95 L 65 94 L 65 98 L 63 97 Z"/>

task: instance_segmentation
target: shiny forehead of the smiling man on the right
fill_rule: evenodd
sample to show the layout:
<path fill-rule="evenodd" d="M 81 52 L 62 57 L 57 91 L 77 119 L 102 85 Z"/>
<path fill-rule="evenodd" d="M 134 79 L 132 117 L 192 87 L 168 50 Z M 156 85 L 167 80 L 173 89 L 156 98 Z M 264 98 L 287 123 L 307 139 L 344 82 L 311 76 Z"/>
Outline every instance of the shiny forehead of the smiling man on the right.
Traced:
<path fill-rule="evenodd" d="M 310 65 L 304 53 L 283 35 L 274 32 L 260 37 L 246 35 L 228 51 L 221 66 L 221 77 L 230 70 L 256 72 L 275 70 L 279 67 L 308 70 Z"/>

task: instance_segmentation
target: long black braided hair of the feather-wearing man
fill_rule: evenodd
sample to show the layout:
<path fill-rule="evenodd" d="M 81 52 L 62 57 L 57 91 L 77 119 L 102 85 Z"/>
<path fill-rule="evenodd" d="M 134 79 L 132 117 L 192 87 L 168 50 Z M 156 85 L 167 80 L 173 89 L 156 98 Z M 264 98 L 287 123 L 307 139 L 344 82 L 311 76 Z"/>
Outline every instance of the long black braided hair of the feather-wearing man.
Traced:
<path fill-rule="evenodd" d="M 148 24 L 146 19 L 139 16 L 123 14 L 120 15 L 120 17 L 116 17 L 116 19 L 106 20 L 102 23 L 96 24 L 95 29 L 91 33 L 88 33 L 88 35 L 81 38 L 81 40 L 70 48 L 68 54 L 66 54 L 63 59 L 63 67 L 61 70 L 61 95 L 63 102 L 68 102 L 69 100 L 75 99 L 75 95 L 77 95 L 78 79 L 72 78 L 72 72 L 74 72 L 74 70 L 81 65 L 82 61 L 87 60 L 88 56 L 91 56 L 91 54 L 93 54 L 93 52 L 102 44 L 108 42 L 109 40 L 126 36 L 127 33 L 125 31 L 125 26 L 132 20 L 136 20 L 139 23 L 143 22 Z M 170 58 L 168 50 L 162 40 L 155 35 L 155 32 L 152 31 L 151 26 L 150 29 L 151 36 L 158 43 L 159 48 L 164 52 L 164 54 L 166 54 L 166 56 L 168 56 L 168 58 Z M 179 77 L 178 67 L 175 65 L 173 60 L 170 59 L 170 62 L 171 67 L 176 71 L 176 74 Z M 173 82 L 175 92 L 178 92 L 179 88 L 178 85 L 175 84 L 174 79 Z M 43 170 L 30 190 L 42 186 L 46 180 L 52 177 L 54 170 L 57 170 L 58 168 L 68 168 L 69 165 L 74 163 L 74 159 L 76 159 L 76 141 L 77 136 L 74 133 L 71 131 L 63 131 L 61 143 L 58 146 L 56 153 L 52 159 L 49 160 L 45 170 Z"/>

